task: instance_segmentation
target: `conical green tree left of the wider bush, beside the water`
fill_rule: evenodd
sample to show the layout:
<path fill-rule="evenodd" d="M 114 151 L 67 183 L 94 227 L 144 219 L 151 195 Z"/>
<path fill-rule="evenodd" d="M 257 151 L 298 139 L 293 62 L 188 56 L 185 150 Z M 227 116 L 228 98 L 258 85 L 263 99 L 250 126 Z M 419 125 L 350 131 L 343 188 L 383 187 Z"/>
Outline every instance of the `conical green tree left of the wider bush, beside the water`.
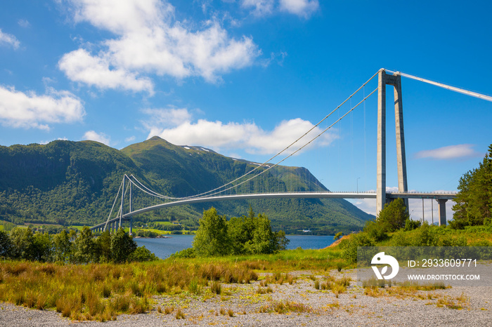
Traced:
<path fill-rule="evenodd" d="M 193 248 L 202 257 L 230 254 L 232 248 L 226 216 L 218 215 L 215 208 L 204 211 L 193 239 Z"/>

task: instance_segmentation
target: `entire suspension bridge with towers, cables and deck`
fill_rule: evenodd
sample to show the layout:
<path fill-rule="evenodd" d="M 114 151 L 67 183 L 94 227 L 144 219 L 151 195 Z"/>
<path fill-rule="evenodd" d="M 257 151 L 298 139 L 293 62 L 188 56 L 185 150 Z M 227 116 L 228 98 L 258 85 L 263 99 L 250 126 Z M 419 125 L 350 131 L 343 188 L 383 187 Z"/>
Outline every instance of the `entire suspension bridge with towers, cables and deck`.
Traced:
<path fill-rule="evenodd" d="M 354 107 L 350 106 L 349 110 L 343 115 L 339 114 L 339 117 L 328 127 L 324 128 L 321 133 L 313 136 L 313 131 L 318 128 L 323 121 L 328 119 L 332 114 L 337 112 L 342 105 L 345 105 L 351 100 L 356 93 L 361 91 L 368 83 L 375 79 L 377 76 L 377 88 L 370 92 L 367 96 L 363 96 L 363 99 L 358 102 Z M 215 187 L 207 192 L 195 194 L 193 196 L 185 197 L 172 197 L 159 194 L 149 187 L 143 185 L 134 175 L 124 175 L 122 183 L 119 186 L 115 201 L 113 202 L 108 219 L 99 224 L 91 227 L 93 231 L 105 231 L 116 230 L 122 228 L 122 224 L 125 221 L 129 222 L 130 234 L 132 232 L 132 223 L 134 215 L 146 213 L 148 211 L 155 211 L 158 209 L 170 208 L 172 206 L 183 206 L 186 204 L 206 203 L 216 201 L 233 201 L 233 200 L 245 200 L 245 199 L 376 199 L 377 213 L 379 213 L 384 204 L 394 199 L 403 199 L 408 208 L 408 199 L 433 199 L 439 204 L 439 225 L 446 225 L 446 201 L 454 199 L 455 192 L 408 192 L 407 173 L 406 173 L 406 153 L 405 153 L 405 138 L 403 129 L 403 102 L 401 92 L 401 77 L 409 79 L 415 79 L 427 84 L 446 88 L 450 91 L 463 93 L 475 98 L 491 101 L 492 97 L 488 95 L 482 95 L 471 91 L 466 91 L 461 88 L 455 88 L 446 84 L 437 83 L 435 81 L 429 81 L 417 76 L 404 74 L 402 72 L 391 72 L 387 69 L 380 69 L 376 74 L 370 77 L 360 88 L 352 93 L 349 98 L 344 100 L 339 106 L 325 116 L 318 124 L 314 125 L 309 131 L 306 131 L 303 135 L 300 135 L 297 140 L 287 145 L 282 151 L 272 156 L 264 163 L 252 163 L 254 168 L 247 171 L 244 175 L 241 175 L 230 182 L 227 182 L 220 187 Z M 398 170 L 398 192 L 388 192 L 386 187 L 386 88 L 387 85 L 394 87 L 394 109 L 395 109 L 395 126 L 396 126 L 396 154 L 397 154 L 397 170 Z M 282 171 L 284 168 L 280 166 L 280 163 L 289 159 L 291 156 L 302 151 L 302 149 L 311 145 L 316 139 L 320 138 L 323 133 L 330 130 L 335 124 L 339 123 L 345 116 L 354 111 L 359 105 L 367 100 L 371 95 L 377 92 L 377 187 L 375 192 L 330 192 L 323 185 L 321 185 L 316 178 L 311 183 L 314 186 L 310 187 L 306 185 L 299 185 L 287 187 L 284 184 L 278 182 L 278 185 L 270 185 L 266 182 L 266 178 L 271 175 L 281 175 L 285 173 Z M 351 103 L 351 102 L 349 102 Z M 317 130 L 316 130 L 317 131 Z M 279 159 L 284 155 L 283 159 Z M 275 162 L 276 163 L 272 163 Z M 261 190 L 254 185 L 263 185 Z M 312 186 L 312 185 L 311 185 Z M 152 199 L 156 199 L 158 203 L 153 203 L 141 208 L 134 208 L 133 201 L 134 192 L 140 192 L 149 196 Z M 126 202 L 125 202 L 125 199 Z M 119 207 L 118 211 L 115 211 L 115 207 Z M 115 215 L 113 215 L 115 213 Z"/>

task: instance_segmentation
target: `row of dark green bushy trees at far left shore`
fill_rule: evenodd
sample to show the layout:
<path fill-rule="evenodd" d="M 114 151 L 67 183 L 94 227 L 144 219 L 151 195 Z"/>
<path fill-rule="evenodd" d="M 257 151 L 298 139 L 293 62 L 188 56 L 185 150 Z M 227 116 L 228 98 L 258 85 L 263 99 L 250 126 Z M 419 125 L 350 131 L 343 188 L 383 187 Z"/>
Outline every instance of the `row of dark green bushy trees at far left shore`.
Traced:
<path fill-rule="evenodd" d="M 157 260 L 145 246 L 138 247 L 124 229 L 94 237 L 89 227 L 50 235 L 15 227 L 10 234 L 0 231 L 0 258 L 40 262 L 85 264 Z"/>

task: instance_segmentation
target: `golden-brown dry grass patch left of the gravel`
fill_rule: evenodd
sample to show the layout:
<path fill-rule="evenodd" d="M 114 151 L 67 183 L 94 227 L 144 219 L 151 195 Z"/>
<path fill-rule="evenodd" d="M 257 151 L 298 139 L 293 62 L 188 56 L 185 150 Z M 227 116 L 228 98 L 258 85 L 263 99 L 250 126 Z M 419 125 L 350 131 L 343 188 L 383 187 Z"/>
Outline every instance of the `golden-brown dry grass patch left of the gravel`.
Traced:
<path fill-rule="evenodd" d="M 37 309 L 53 308 L 70 319 L 107 321 L 117 314 L 147 312 L 148 299 L 157 294 L 200 294 L 209 283 L 213 293 L 221 294 L 221 281 L 256 281 L 254 267 L 259 265 L 198 265 L 191 261 L 132 265 L 4 262 L 0 265 L 0 301 Z M 176 316 L 182 317 L 183 313 Z"/>

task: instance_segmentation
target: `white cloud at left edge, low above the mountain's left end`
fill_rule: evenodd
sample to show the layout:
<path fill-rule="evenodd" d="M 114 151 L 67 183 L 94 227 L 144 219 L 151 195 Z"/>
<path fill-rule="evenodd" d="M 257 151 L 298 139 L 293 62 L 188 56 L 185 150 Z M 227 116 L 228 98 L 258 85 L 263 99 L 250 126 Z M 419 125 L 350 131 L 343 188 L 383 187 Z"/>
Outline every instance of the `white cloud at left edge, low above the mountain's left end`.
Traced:
<path fill-rule="evenodd" d="M 49 123 L 72 123 L 85 115 L 82 101 L 68 91 L 48 88 L 45 95 L 0 86 L 0 122 L 15 128 L 49 129 Z"/>

